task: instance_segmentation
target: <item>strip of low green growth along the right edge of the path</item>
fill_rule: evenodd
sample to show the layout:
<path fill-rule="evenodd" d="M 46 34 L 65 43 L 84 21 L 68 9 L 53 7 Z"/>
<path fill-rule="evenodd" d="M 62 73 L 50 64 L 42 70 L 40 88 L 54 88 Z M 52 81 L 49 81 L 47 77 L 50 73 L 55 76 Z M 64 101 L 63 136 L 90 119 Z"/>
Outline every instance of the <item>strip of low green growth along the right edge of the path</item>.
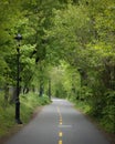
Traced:
<path fill-rule="evenodd" d="M 111 144 L 115 144 L 115 123 L 111 123 L 107 117 L 97 119 L 96 116 L 93 116 L 91 114 L 92 107 L 83 101 L 70 101 L 74 103 L 75 109 L 85 114 L 90 121 L 98 127 L 98 130 L 107 137 Z"/>

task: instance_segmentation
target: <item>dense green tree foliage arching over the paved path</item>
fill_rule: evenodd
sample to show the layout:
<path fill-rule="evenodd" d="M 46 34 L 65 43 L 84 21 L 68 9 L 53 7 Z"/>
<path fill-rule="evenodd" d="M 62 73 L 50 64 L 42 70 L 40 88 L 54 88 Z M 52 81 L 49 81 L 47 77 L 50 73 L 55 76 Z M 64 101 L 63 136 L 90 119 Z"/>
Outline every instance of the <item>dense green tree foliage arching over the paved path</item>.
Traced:
<path fill-rule="evenodd" d="M 17 33 L 23 38 L 21 92 L 82 101 L 115 132 L 115 1 L 0 1 L 0 91 L 6 106 L 15 97 Z"/>

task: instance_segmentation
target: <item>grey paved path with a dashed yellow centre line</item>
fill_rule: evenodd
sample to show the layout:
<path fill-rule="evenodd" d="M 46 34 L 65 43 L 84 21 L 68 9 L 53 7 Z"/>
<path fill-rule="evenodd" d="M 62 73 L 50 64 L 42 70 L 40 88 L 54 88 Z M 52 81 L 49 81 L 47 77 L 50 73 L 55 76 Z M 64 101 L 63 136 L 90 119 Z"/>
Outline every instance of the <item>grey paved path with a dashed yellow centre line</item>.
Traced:
<path fill-rule="evenodd" d="M 60 99 L 46 105 L 7 144 L 109 144 L 73 105 Z"/>

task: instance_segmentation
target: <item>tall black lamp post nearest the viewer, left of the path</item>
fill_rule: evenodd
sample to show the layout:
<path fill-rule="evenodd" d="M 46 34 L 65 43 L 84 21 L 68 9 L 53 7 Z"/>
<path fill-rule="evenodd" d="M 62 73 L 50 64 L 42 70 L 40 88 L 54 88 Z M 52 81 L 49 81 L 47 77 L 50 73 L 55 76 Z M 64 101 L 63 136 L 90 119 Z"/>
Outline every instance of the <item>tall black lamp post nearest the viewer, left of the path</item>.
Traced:
<path fill-rule="evenodd" d="M 15 96 L 15 122 L 18 124 L 22 124 L 20 120 L 20 41 L 22 40 L 22 35 L 18 34 L 14 38 L 18 41 L 17 48 L 17 96 Z"/>

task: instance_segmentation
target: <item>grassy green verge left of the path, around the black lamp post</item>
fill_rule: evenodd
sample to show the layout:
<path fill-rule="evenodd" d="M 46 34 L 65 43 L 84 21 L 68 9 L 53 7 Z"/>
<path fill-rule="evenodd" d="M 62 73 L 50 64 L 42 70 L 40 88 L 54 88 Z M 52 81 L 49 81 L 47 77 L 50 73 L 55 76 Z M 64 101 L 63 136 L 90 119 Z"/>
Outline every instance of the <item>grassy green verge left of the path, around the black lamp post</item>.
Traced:
<path fill-rule="evenodd" d="M 20 117 L 23 124 L 27 124 L 30 121 L 34 110 L 38 106 L 42 106 L 50 103 L 49 97 L 46 95 L 39 97 L 38 93 L 29 93 L 24 95 L 21 94 L 20 102 Z M 0 137 L 9 134 L 11 128 L 17 125 L 14 120 L 14 113 L 15 105 L 6 105 L 2 93 L 0 93 Z"/>

